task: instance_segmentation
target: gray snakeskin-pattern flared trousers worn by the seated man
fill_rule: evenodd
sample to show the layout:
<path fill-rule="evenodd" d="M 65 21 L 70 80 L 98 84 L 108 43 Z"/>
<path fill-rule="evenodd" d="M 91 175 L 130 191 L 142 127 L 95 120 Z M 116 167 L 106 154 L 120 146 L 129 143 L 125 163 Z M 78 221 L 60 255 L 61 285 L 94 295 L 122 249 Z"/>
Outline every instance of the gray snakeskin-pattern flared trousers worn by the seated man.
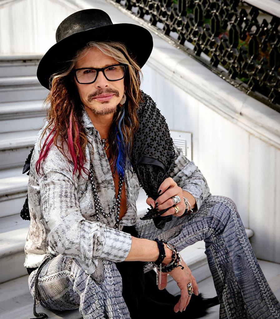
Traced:
<path fill-rule="evenodd" d="M 280 318 L 280 304 L 257 262 L 235 203 L 209 195 L 196 214 L 173 216 L 163 230 L 152 220 L 138 220 L 140 238 L 165 238 L 180 251 L 205 241 L 205 254 L 220 300 L 220 319 Z M 48 309 L 78 309 L 83 318 L 130 318 L 122 297 L 122 279 L 116 264 L 103 259 L 104 281 L 96 283 L 75 258 L 58 255 L 39 274 L 40 304 Z M 151 263 L 144 263 L 149 271 Z M 28 285 L 34 298 L 34 270 Z M 199 284 L 198 284 L 199 286 Z M 186 308 L 187 318 L 187 308 Z"/>

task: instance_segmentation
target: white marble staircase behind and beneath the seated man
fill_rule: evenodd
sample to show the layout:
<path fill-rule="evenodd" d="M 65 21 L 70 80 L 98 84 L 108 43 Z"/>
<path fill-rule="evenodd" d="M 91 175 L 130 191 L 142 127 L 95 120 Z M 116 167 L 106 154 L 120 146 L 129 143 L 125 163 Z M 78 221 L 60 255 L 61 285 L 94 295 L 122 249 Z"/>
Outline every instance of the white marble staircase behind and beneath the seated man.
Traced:
<path fill-rule="evenodd" d="M 42 102 L 48 91 L 35 76 L 40 56 L 0 57 L 0 317 L 33 317 L 33 299 L 23 267 L 24 244 L 29 221 L 20 218 L 27 193 L 28 176 L 22 168 L 43 125 Z M 148 208 L 146 195 L 137 200 L 139 217 Z M 253 232 L 248 230 L 250 237 Z M 197 282 L 211 276 L 204 243 L 198 242 L 182 251 Z M 168 290 L 178 294 L 178 286 L 169 277 Z M 213 295 L 213 297 L 215 294 Z M 49 318 L 81 318 L 79 311 L 56 312 L 37 308 Z"/>

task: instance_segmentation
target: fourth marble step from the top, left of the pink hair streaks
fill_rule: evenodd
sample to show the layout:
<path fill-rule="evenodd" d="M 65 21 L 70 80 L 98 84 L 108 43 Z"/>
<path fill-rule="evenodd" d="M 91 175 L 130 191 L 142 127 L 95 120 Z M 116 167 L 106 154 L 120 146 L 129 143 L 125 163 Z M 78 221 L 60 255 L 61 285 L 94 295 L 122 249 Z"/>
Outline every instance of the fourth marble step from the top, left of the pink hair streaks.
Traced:
<path fill-rule="evenodd" d="M 0 170 L 24 166 L 34 146 L 38 130 L 7 132 L 0 134 Z"/>

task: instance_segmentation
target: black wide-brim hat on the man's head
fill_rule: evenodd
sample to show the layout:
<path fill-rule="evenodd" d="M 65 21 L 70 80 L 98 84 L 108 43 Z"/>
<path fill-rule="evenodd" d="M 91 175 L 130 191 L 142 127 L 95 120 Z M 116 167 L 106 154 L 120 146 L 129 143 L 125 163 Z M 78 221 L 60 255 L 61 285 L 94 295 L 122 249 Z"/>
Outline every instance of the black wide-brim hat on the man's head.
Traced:
<path fill-rule="evenodd" d="M 109 15 L 99 9 L 77 11 L 65 18 L 57 28 L 56 41 L 42 57 L 37 69 L 39 82 L 48 90 L 51 75 L 63 71 L 75 52 L 87 42 L 122 42 L 140 68 L 153 49 L 153 38 L 147 29 L 131 23 L 113 24 Z"/>

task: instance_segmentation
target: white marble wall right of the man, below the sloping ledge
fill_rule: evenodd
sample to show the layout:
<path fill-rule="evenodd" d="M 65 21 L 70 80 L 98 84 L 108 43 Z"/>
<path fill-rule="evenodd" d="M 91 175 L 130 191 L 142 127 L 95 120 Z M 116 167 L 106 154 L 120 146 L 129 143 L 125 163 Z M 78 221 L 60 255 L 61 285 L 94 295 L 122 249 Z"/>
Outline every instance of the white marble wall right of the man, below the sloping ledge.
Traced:
<path fill-rule="evenodd" d="M 143 74 L 142 89 L 155 100 L 170 130 L 192 132 L 193 161 L 210 192 L 233 199 L 244 226 L 254 231 L 257 257 L 280 263 L 280 149 L 201 103 L 151 63 Z"/>

